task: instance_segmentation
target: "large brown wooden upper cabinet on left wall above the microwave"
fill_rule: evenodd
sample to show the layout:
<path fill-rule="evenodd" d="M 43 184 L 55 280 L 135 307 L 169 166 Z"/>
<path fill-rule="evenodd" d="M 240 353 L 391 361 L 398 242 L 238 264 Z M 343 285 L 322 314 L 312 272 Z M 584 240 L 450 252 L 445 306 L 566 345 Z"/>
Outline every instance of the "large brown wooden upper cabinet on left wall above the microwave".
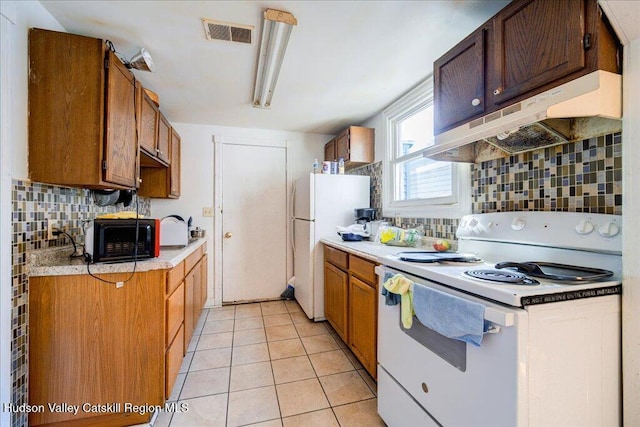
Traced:
<path fill-rule="evenodd" d="M 134 77 L 100 39 L 29 30 L 29 177 L 85 188 L 138 182 Z"/>

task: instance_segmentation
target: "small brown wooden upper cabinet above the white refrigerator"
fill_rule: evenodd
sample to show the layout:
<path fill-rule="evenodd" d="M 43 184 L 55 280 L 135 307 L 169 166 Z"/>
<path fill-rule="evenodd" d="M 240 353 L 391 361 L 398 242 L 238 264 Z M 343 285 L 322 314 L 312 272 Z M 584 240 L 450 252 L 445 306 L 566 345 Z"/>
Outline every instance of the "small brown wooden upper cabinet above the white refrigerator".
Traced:
<path fill-rule="evenodd" d="M 342 157 L 345 169 L 353 169 L 373 163 L 374 145 L 374 129 L 349 126 L 324 146 L 324 159 L 337 161 Z"/>

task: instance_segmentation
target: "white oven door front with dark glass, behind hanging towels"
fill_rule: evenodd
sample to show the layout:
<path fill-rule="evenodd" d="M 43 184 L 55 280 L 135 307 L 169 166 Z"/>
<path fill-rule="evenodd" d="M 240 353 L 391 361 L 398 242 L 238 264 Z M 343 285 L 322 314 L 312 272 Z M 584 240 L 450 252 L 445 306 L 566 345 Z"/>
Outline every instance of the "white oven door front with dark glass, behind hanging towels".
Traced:
<path fill-rule="evenodd" d="M 441 425 L 526 425 L 527 312 L 387 267 L 377 269 L 379 289 L 382 289 L 385 272 L 401 273 L 415 283 L 485 305 L 485 320 L 491 322 L 493 333 L 485 334 L 482 345 L 476 347 L 432 331 L 415 316 L 413 326 L 405 330 L 400 319 L 400 305 L 385 305 L 385 298 L 380 296 L 379 372 L 390 375 L 406 391 L 407 401 L 412 397 Z M 381 383 L 378 393 L 378 400 L 384 403 L 398 391 L 387 390 Z M 393 398 L 397 399 L 397 396 Z M 388 405 L 379 404 L 380 415 L 388 423 L 398 419 L 398 414 L 392 411 Z"/>

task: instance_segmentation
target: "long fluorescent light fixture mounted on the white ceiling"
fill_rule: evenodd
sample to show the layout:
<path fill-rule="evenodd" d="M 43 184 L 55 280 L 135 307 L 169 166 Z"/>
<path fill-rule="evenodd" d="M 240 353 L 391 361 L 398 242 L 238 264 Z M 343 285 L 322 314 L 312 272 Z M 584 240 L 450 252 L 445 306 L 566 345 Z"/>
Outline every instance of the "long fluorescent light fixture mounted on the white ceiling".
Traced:
<path fill-rule="evenodd" d="M 267 9 L 262 24 L 262 41 L 258 58 L 256 85 L 253 90 L 253 106 L 256 108 L 271 107 L 271 98 L 278 81 L 280 67 L 287 50 L 287 43 L 296 18 L 280 10 Z"/>

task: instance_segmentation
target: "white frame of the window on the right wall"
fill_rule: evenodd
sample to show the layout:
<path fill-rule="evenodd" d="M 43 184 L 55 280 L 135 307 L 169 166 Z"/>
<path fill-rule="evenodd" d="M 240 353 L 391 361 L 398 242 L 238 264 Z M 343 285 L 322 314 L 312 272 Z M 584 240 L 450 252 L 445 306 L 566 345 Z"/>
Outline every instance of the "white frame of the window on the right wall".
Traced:
<path fill-rule="evenodd" d="M 382 112 L 385 135 L 382 168 L 384 182 L 382 215 L 385 217 L 458 218 L 471 213 L 470 165 L 465 163 L 452 163 L 452 196 L 434 199 L 393 200 L 396 185 L 394 182 L 394 159 L 396 161 L 410 160 L 422 156 L 422 150 L 420 150 L 396 159 L 398 123 L 432 103 L 433 78 L 430 76 Z"/>

